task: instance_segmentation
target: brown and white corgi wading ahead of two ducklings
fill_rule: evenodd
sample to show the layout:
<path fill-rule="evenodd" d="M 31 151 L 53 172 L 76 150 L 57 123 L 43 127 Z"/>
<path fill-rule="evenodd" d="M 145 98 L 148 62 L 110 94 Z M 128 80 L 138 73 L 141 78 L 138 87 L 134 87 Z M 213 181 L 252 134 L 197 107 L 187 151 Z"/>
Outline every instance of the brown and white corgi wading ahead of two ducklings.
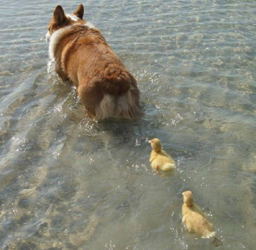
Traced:
<path fill-rule="evenodd" d="M 56 72 L 76 86 L 90 118 L 141 117 L 136 80 L 83 15 L 82 4 L 72 14 L 65 14 L 60 5 L 53 12 L 45 38 Z"/>

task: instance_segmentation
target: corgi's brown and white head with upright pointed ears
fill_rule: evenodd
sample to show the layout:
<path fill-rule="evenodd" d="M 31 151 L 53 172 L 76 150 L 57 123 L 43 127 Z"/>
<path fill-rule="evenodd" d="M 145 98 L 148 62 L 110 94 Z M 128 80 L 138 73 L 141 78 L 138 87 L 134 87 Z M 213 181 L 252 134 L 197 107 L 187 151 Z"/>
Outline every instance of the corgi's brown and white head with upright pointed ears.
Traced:
<path fill-rule="evenodd" d="M 83 20 L 84 6 L 80 3 L 77 9 L 72 14 L 65 14 L 64 10 L 60 5 L 56 6 L 53 17 L 51 18 L 48 25 L 48 32 L 45 36 L 47 42 L 49 42 L 50 37 L 53 32 L 59 28 L 72 25 L 74 23 L 85 23 Z"/>

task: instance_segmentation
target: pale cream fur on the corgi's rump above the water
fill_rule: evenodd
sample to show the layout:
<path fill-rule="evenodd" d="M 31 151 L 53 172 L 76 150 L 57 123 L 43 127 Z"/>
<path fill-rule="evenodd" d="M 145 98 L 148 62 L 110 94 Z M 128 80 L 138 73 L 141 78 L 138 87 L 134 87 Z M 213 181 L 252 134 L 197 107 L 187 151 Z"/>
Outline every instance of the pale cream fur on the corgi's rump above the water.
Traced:
<path fill-rule="evenodd" d="M 136 119 L 142 116 L 142 111 L 136 103 L 136 97 L 131 94 L 131 89 L 121 97 L 105 94 L 100 104 L 96 107 L 96 120 L 107 118 Z"/>

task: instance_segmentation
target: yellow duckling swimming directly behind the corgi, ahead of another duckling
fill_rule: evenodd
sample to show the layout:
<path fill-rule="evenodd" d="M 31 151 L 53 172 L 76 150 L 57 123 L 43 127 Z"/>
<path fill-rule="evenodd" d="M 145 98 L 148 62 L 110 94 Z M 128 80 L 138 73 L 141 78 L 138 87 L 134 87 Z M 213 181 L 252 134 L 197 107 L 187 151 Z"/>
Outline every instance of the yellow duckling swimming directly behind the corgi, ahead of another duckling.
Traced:
<path fill-rule="evenodd" d="M 148 141 L 151 144 L 152 151 L 149 161 L 151 162 L 151 167 L 157 170 L 159 175 L 161 171 L 171 171 L 175 169 L 175 161 L 169 156 L 168 153 L 162 150 L 162 144 L 159 139 L 154 138 Z"/>

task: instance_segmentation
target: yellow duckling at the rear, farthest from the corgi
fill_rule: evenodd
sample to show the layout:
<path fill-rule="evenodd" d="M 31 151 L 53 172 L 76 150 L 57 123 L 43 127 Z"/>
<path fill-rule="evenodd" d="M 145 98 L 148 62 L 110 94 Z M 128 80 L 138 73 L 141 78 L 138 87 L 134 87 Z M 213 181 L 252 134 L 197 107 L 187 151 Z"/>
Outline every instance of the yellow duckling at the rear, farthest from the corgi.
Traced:
<path fill-rule="evenodd" d="M 196 233 L 203 238 L 214 237 L 212 244 L 215 247 L 221 245 L 221 241 L 215 237 L 215 232 L 212 230 L 212 223 L 208 222 L 200 207 L 194 203 L 193 193 L 185 191 L 183 195 L 182 205 L 182 222 L 186 225 L 189 233 Z"/>

